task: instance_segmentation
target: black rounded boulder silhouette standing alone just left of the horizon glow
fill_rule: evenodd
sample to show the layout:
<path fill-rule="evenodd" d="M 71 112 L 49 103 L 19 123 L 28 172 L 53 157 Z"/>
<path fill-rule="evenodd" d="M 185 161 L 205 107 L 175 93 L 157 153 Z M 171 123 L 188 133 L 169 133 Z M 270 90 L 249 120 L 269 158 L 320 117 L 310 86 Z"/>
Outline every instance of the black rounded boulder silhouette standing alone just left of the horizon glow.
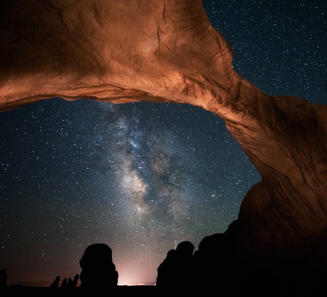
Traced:
<path fill-rule="evenodd" d="M 112 250 L 104 243 L 88 246 L 80 260 L 80 266 L 81 287 L 85 289 L 112 288 L 118 283 L 118 272 L 112 263 Z"/>

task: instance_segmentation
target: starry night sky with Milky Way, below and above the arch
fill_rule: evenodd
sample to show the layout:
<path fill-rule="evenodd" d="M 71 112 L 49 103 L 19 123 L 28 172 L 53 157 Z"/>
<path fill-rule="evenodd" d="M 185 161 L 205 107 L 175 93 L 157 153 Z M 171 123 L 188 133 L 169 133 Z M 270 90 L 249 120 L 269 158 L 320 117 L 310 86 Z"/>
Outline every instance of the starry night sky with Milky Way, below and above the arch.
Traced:
<path fill-rule="evenodd" d="M 327 103 L 325 1 L 203 1 L 233 66 L 272 96 Z M 0 269 L 80 273 L 92 243 L 119 284 L 153 284 L 168 250 L 237 219 L 261 180 L 214 113 L 185 104 L 44 100 L 0 113 Z"/>

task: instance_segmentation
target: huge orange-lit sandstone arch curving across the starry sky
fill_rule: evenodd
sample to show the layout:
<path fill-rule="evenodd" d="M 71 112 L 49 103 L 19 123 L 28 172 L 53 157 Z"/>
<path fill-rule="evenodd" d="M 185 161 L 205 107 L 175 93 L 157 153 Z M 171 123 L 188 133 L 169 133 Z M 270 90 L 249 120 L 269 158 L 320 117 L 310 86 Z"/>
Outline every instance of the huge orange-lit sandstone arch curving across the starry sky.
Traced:
<path fill-rule="evenodd" d="M 276 254 L 316 255 L 308 266 L 327 266 L 327 107 L 267 96 L 237 74 L 200 0 L 1 6 L 1 111 L 52 97 L 212 111 L 262 176 L 229 230 L 238 255 L 259 266 Z"/>

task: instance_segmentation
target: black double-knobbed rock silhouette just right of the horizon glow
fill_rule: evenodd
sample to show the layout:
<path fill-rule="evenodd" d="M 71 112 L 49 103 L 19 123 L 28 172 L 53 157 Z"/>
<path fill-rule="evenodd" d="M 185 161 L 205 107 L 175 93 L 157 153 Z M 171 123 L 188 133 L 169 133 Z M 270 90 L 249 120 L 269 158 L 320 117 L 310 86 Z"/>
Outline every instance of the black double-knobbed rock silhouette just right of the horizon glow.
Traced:
<path fill-rule="evenodd" d="M 190 290 L 195 285 L 194 245 L 183 241 L 171 249 L 157 271 L 156 286 L 163 289 Z"/>

